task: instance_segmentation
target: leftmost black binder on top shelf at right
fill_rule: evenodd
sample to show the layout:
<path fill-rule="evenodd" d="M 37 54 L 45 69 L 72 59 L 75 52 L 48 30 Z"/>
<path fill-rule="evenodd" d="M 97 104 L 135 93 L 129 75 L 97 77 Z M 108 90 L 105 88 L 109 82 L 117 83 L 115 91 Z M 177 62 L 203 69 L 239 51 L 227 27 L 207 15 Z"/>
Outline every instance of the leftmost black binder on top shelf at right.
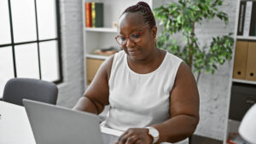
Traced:
<path fill-rule="evenodd" d="M 242 35 L 243 33 L 246 4 L 247 2 L 244 2 L 244 1 L 240 2 L 237 35 Z"/>

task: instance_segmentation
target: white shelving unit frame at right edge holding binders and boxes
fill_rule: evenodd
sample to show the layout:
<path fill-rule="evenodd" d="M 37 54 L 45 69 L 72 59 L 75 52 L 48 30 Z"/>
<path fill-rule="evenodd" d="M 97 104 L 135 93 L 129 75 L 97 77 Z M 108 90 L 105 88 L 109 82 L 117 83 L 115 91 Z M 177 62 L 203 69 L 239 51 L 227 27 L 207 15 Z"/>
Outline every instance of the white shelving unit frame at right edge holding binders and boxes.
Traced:
<path fill-rule="evenodd" d="M 239 9 L 240 9 L 240 2 L 241 1 L 250 1 L 250 0 L 236 0 L 236 24 L 235 24 L 235 30 L 234 30 L 234 33 L 236 34 L 237 33 L 237 26 L 238 26 L 238 19 L 239 19 Z M 230 91 L 229 91 L 229 97 L 228 97 L 228 101 L 227 101 L 227 114 L 226 114 L 226 127 L 225 127 L 225 133 L 224 133 L 224 144 L 226 144 L 227 140 L 228 140 L 228 136 L 231 134 L 231 133 L 238 133 L 238 128 L 239 128 L 239 125 L 240 125 L 240 121 L 237 121 L 237 120 L 233 120 L 233 119 L 230 119 L 230 100 L 231 100 L 231 88 L 232 88 L 232 85 L 234 83 L 236 84 L 253 84 L 253 85 L 256 85 L 256 81 L 251 81 L 251 80 L 245 80 L 245 79 L 236 79 L 236 78 L 233 78 L 233 67 L 234 67 L 234 58 L 235 58 L 235 51 L 236 51 L 236 41 L 237 40 L 248 40 L 248 41 L 256 41 L 256 37 L 251 37 L 251 36 L 238 36 L 238 35 L 235 35 L 235 49 L 234 49 L 234 52 L 233 52 L 233 60 L 232 60 L 232 68 L 230 69 L 230 84 L 229 84 L 229 88 L 230 88 Z M 256 54 L 255 54 L 256 55 Z M 247 96 L 247 95 L 246 95 Z M 241 106 L 237 106 L 237 107 L 241 107 Z"/>

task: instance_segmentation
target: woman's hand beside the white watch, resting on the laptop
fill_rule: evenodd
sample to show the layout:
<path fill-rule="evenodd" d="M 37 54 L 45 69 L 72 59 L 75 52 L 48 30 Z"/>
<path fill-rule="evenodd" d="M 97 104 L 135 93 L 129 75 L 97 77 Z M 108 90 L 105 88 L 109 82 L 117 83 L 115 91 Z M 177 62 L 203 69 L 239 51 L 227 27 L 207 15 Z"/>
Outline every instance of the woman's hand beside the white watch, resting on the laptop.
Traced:
<path fill-rule="evenodd" d="M 153 137 L 148 134 L 146 128 L 131 128 L 126 130 L 115 144 L 151 144 Z"/>

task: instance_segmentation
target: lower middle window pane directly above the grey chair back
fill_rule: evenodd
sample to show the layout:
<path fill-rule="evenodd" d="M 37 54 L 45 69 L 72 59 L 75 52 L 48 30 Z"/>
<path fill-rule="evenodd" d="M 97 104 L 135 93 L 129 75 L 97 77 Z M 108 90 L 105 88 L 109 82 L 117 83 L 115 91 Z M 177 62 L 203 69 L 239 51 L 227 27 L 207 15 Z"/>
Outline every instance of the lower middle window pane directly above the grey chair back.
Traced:
<path fill-rule="evenodd" d="M 39 78 L 37 43 L 15 46 L 18 78 Z"/>

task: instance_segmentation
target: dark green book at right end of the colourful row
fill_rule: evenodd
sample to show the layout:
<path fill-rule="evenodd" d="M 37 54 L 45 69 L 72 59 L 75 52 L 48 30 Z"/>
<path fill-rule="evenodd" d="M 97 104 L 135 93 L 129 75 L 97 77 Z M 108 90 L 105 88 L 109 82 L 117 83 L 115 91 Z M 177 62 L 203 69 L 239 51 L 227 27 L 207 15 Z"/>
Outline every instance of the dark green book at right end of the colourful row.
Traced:
<path fill-rule="evenodd" d="M 95 3 L 95 11 L 96 11 L 96 27 L 103 27 L 103 3 Z"/>

